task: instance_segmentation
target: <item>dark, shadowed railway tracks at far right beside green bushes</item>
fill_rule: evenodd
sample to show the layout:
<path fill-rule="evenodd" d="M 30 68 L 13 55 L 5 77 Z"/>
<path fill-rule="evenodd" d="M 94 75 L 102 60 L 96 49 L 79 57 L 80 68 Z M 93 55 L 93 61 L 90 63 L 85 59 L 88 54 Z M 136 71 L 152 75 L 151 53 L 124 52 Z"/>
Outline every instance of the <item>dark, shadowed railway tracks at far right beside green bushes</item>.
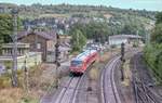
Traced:
<path fill-rule="evenodd" d="M 156 95 L 151 89 L 147 86 L 146 81 L 141 77 L 143 73 L 137 72 L 139 65 L 137 59 L 134 59 L 134 74 L 133 86 L 135 92 L 136 103 L 161 103 L 162 99 Z"/>

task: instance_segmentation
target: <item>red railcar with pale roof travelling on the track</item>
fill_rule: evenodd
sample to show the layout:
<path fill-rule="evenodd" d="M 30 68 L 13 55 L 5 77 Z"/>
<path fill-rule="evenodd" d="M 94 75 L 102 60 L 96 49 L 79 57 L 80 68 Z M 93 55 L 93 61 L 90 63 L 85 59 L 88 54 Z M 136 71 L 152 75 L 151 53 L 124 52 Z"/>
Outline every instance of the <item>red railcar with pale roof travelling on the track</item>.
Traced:
<path fill-rule="evenodd" d="M 70 64 L 70 73 L 83 74 L 86 68 L 98 59 L 96 50 L 86 50 L 77 55 Z"/>

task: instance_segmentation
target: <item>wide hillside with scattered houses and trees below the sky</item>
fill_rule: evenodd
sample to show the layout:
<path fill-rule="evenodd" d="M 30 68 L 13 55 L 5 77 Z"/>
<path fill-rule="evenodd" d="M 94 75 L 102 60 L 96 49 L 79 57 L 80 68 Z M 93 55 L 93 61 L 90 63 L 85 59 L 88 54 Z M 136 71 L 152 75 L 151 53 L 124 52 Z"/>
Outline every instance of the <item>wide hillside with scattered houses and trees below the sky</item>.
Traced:
<path fill-rule="evenodd" d="M 148 34 L 148 28 L 154 27 L 154 16 L 157 14 L 153 11 L 125 10 L 103 5 L 42 5 L 39 3 L 32 5 L 1 3 L 0 12 L 11 13 L 14 8 L 18 9 L 18 16 L 22 18 L 24 27 L 28 27 L 28 25 L 32 25 L 32 28 L 43 26 L 43 28 L 51 29 L 56 27 L 56 29 L 67 33 L 72 22 L 76 23 L 77 17 L 80 23 L 85 22 L 89 24 L 92 20 L 106 23 L 109 27 L 109 33 L 111 33 L 110 35 L 138 34 L 144 37 Z"/>

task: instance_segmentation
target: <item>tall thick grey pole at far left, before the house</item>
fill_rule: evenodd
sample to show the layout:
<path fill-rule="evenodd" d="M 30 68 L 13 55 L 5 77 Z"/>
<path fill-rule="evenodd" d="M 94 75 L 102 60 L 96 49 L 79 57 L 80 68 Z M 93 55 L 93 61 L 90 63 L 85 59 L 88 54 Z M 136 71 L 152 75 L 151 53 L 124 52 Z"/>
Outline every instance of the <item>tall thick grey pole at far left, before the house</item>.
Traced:
<path fill-rule="evenodd" d="M 17 87 L 17 14 L 18 11 L 13 9 L 13 68 L 12 68 L 12 86 Z"/>

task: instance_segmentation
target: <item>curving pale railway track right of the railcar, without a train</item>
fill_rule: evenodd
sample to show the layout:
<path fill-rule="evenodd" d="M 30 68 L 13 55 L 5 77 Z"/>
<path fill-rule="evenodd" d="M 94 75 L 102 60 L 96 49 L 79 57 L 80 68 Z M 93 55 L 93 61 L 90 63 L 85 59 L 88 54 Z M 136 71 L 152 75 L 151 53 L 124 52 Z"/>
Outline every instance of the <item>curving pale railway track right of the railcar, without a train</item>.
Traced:
<path fill-rule="evenodd" d="M 120 64 L 120 56 L 116 56 L 103 69 L 100 78 L 102 103 L 121 103 L 114 82 L 113 70 Z"/>

